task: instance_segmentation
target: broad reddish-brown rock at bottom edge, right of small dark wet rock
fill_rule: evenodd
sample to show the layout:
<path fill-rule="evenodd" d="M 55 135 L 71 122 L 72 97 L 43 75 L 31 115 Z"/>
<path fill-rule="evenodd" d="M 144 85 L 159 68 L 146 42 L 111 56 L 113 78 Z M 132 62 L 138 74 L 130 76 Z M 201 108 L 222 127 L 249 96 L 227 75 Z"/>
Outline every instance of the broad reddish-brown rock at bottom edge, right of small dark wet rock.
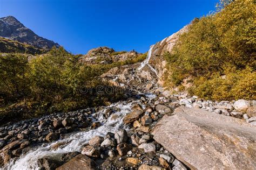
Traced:
<path fill-rule="evenodd" d="M 66 164 L 56 168 L 56 170 L 69 170 L 69 169 L 86 169 L 96 170 L 96 163 L 89 157 L 83 154 L 77 155 L 75 158 L 66 162 Z"/>

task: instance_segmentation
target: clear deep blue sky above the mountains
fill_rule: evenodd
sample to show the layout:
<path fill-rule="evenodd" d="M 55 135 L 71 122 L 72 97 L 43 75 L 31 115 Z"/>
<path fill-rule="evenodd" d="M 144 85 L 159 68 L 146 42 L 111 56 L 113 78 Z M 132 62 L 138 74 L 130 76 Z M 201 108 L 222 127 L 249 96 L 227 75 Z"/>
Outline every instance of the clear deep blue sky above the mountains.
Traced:
<path fill-rule="evenodd" d="M 85 54 L 108 46 L 146 52 L 218 0 L 0 0 L 0 17 L 14 16 L 41 37 Z"/>

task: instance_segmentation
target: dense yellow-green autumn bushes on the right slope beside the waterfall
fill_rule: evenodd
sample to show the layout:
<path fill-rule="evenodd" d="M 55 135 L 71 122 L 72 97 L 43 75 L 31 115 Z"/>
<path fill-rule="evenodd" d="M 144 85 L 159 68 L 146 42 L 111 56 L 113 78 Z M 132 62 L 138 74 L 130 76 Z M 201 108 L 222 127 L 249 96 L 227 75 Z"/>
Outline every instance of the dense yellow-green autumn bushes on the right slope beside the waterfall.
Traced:
<path fill-rule="evenodd" d="M 166 86 L 192 77 L 191 94 L 215 100 L 255 98 L 255 4 L 220 1 L 217 12 L 188 26 L 172 53 L 166 53 Z M 226 79 L 221 77 L 226 76 Z"/>

